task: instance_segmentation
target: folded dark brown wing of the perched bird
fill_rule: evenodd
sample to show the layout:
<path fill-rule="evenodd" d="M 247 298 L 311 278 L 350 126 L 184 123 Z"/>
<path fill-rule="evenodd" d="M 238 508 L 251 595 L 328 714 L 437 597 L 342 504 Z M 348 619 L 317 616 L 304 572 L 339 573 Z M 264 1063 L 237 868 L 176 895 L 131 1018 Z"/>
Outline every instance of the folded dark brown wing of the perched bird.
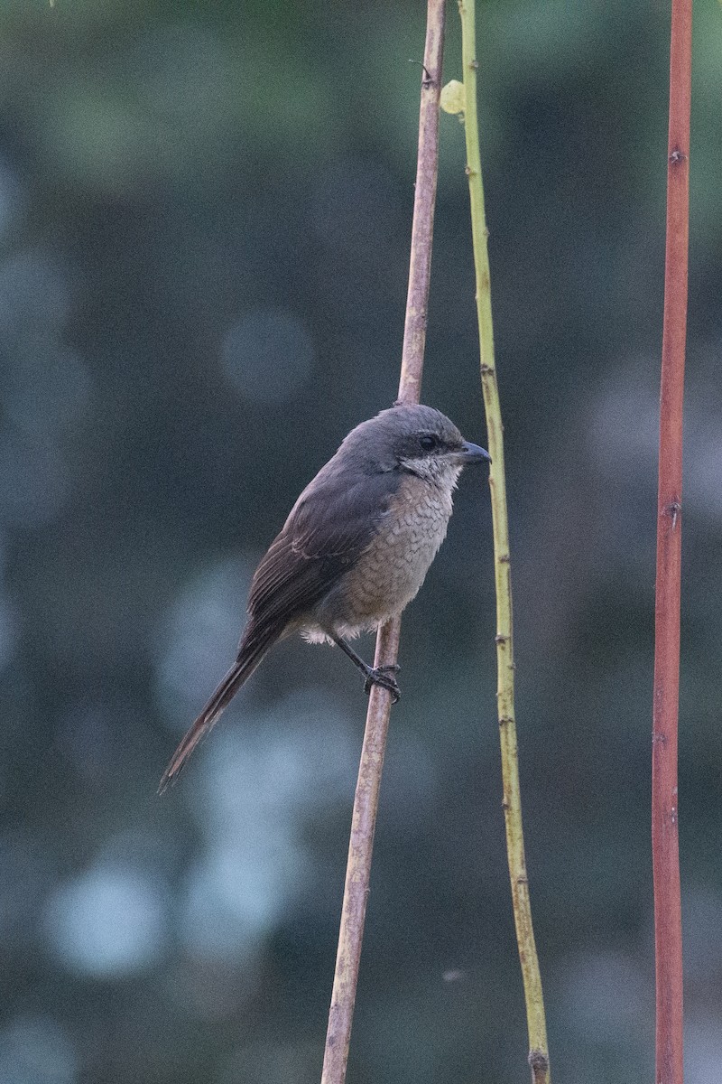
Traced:
<path fill-rule="evenodd" d="M 252 623 L 287 624 L 316 606 L 373 538 L 393 498 L 392 474 L 316 476 L 272 542 L 251 584 Z"/>

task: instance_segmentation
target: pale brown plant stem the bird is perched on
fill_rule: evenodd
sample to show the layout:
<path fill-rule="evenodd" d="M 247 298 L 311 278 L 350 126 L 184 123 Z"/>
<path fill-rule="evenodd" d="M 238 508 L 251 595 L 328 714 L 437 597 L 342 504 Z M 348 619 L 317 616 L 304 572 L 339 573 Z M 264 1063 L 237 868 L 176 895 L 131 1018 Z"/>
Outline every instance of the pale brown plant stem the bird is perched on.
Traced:
<path fill-rule="evenodd" d="M 426 308 L 431 281 L 431 249 L 438 164 L 438 98 L 444 55 L 444 0 L 429 0 L 426 43 L 419 111 L 419 150 L 411 225 L 409 285 L 404 324 L 404 347 L 398 399 L 416 403 L 421 390 Z M 376 642 L 375 666 L 396 661 L 401 621 L 388 622 Z M 381 771 L 389 731 L 390 694 L 371 687 L 366 731 L 352 814 L 349 860 L 341 908 L 341 929 L 326 1033 L 321 1084 L 343 1084 L 353 1022 L 366 903 L 371 876 L 371 854 Z"/>

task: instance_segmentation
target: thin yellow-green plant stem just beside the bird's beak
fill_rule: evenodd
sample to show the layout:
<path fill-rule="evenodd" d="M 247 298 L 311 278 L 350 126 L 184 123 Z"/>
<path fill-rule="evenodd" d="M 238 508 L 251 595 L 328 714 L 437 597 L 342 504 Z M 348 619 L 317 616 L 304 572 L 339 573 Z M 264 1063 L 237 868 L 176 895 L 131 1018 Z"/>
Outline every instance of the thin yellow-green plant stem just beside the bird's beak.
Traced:
<path fill-rule="evenodd" d="M 507 853 L 511 894 L 516 926 L 518 956 L 524 981 L 526 1018 L 529 1036 L 529 1066 L 534 1084 L 549 1084 L 549 1051 L 547 1023 L 541 990 L 541 975 L 531 925 L 529 885 L 524 854 L 522 799 L 516 752 L 514 717 L 514 642 L 511 596 L 511 563 L 509 551 L 509 517 L 504 473 L 503 426 L 494 360 L 494 326 L 491 322 L 491 286 L 488 256 L 488 230 L 484 211 L 484 188 L 478 143 L 476 112 L 476 34 L 474 0 L 460 0 L 462 61 L 464 86 L 464 131 L 467 139 L 467 175 L 471 198 L 471 223 L 476 276 L 476 314 L 481 350 L 482 388 L 491 455 L 489 486 L 494 525 L 494 569 L 497 596 L 497 704 L 501 738 L 501 772 L 503 811 L 507 830 Z"/>

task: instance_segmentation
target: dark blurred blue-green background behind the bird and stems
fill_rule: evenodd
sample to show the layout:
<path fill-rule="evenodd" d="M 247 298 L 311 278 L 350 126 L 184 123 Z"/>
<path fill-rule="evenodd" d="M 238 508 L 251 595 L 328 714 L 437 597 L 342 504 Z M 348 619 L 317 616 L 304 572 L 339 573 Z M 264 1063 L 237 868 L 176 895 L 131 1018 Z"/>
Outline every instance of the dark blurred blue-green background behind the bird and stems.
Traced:
<path fill-rule="evenodd" d="M 449 4 L 446 78 L 460 76 Z M 300 489 L 395 397 L 422 2 L 0 7 L 0 1081 L 320 1072 L 366 702 L 283 645 L 182 782 Z M 695 14 L 687 1082 L 722 1059 L 722 11 Z M 653 1074 L 666 3 L 478 4 L 527 857 L 557 1084 Z M 462 131 L 424 401 L 484 442 Z M 488 492 L 404 620 L 349 1080 L 528 1079 Z M 370 654 L 368 643 L 365 650 Z"/>

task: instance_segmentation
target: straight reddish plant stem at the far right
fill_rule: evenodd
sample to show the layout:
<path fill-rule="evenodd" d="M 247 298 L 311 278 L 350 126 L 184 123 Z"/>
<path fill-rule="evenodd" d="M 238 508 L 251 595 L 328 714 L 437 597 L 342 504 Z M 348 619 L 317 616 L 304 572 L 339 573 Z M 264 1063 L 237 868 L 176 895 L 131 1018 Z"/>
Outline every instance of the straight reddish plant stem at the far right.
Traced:
<path fill-rule="evenodd" d="M 682 912 L 677 748 L 691 69 L 692 0 L 672 0 L 652 726 L 652 860 L 657 991 L 656 1084 L 682 1084 L 683 1081 Z"/>

